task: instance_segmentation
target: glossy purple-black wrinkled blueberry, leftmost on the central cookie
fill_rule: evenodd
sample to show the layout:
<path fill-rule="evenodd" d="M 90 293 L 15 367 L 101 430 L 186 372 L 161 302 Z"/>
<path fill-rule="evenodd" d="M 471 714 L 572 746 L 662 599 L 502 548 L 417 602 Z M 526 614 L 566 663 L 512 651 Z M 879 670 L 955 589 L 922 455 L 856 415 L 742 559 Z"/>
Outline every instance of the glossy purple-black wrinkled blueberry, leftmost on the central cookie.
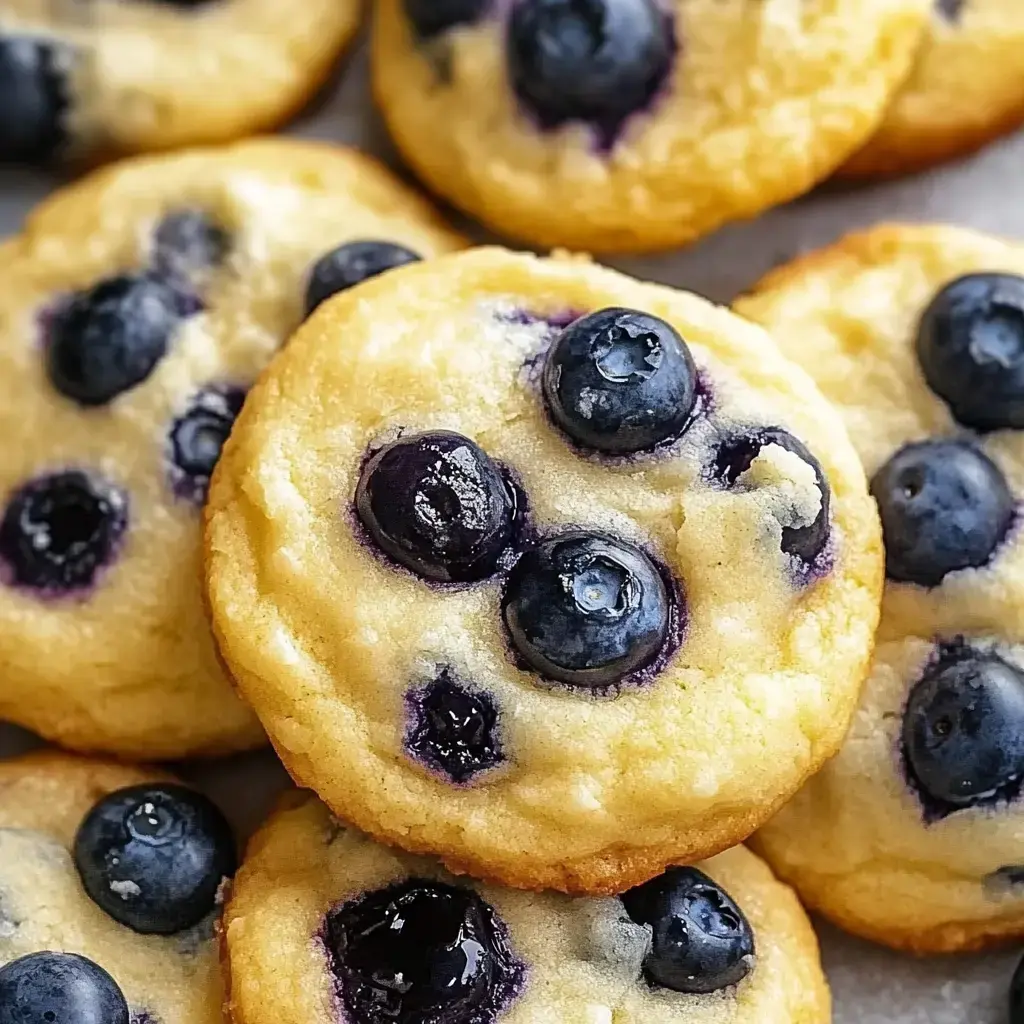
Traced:
<path fill-rule="evenodd" d="M 447 430 L 381 449 L 359 476 L 355 508 L 382 551 L 441 583 L 492 575 L 516 525 L 516 494 L 499 466 Z"/>

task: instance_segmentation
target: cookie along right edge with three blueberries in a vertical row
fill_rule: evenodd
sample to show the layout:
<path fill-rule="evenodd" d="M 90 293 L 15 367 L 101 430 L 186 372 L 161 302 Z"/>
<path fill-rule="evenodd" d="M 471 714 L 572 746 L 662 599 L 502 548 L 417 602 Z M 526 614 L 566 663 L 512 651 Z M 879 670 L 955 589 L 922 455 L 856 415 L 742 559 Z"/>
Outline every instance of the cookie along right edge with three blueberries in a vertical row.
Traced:
<path fill-rule="evenodd" d="M 739 308 L 845 418 L 888 577 L 846 745 L 759 848 L 812 906 L 894 946 L 1024 935 L 1024 247 L 883 226 Z"/>

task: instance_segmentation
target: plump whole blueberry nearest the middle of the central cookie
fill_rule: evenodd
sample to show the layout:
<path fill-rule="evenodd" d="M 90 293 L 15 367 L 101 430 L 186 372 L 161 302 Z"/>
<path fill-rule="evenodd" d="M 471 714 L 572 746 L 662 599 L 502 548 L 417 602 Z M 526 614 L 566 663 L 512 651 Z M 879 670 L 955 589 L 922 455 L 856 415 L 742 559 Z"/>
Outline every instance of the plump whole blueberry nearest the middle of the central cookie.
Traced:
<path fill-rule="evenodd" d="M 660 573 L 632 544 L 573 530 L 528 549 L 502 613 L 512 646 L 547 679 L 605 687 L 648 666 L 669 635 Z"/>

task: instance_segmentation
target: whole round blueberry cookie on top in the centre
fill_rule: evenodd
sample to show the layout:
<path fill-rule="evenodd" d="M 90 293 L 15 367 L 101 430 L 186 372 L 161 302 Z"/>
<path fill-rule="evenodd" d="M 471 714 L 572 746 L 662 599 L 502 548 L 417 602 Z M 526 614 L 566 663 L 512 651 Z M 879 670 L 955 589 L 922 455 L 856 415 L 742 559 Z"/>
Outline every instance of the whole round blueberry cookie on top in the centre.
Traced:
<path fill-rule="evenodd" d="M 860 464 L 766 334 L 500 249 L 310 318 L 207 545 L 221 651 L 302 784 L 588 893 L 733 845 L 835 752 L 882 584 Z"/>

